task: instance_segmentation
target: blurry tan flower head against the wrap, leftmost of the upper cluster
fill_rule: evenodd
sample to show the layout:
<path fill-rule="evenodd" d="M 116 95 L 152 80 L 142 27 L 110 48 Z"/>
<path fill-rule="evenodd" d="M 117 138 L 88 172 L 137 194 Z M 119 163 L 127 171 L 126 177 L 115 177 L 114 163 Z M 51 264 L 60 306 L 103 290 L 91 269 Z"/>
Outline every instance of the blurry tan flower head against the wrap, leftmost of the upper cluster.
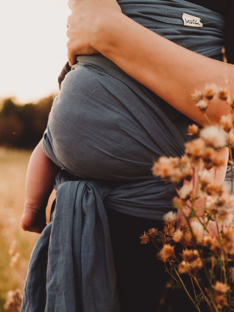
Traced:
<path fill-rule="evenodd" d="M 166 181 L 179 182 L 181 180 L 181 173 L 178 167 L 178 157 L 162 156 L 157 162 L 154 162 L 152 172 L 154 176 L 160 176 Z"/>

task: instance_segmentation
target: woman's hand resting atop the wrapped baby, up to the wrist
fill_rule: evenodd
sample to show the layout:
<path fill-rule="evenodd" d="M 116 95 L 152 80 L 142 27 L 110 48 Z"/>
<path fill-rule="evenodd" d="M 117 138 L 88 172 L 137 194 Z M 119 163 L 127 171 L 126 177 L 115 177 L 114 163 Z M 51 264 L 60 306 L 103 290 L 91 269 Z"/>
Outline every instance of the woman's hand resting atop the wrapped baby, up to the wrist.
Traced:
<path fill-rule="evenodd" d="M 69 0 L 71 15 L 67 19 L 68 61 L 72 66 L 78 54 L 97 54 L 93 47 L 95 33 L 105 25 L 105 17 L 114 11 L 121 12 L 115 0 Z"/>

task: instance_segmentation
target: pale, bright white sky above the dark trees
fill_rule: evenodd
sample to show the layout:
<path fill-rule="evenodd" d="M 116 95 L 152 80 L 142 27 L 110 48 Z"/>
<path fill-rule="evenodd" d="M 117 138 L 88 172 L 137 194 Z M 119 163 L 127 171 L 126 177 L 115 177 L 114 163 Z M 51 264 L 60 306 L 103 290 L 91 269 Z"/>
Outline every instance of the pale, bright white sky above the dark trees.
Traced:
<path fill-rule="evenodd" d="M 28 103 L 57 93 L 67 61 L 68 0 L 0 2 L 0 99 Z"/>

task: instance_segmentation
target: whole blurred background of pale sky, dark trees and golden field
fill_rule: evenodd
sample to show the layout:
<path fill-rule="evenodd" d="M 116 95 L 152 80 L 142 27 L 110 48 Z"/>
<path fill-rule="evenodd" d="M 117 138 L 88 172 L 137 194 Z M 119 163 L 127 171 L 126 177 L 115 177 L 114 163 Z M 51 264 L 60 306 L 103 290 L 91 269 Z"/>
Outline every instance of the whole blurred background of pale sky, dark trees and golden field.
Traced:
<path fill-rule="evenodd" d="M 19 311 L 38 234 L 20 219 L 27 163 L 46 128 L 67 61 L 67 0 L 0 3 L 0 311 Z M 55 194 L 52 193 L 48 209 Z"/>

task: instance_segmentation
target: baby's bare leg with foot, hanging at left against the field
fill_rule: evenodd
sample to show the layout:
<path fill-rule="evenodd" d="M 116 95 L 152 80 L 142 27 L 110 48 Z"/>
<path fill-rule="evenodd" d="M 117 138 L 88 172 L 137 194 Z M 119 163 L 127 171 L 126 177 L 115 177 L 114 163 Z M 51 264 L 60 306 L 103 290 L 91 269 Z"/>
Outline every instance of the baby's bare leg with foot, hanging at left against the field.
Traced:
<path fill-rule="evenodd" d="M 26 176 L 25 203 L 21 226 L 25 231 L 41 233 L 46 226 L 46 205 L 59 171 L 43 150 L 41 141 L 32 152 Z"/>

